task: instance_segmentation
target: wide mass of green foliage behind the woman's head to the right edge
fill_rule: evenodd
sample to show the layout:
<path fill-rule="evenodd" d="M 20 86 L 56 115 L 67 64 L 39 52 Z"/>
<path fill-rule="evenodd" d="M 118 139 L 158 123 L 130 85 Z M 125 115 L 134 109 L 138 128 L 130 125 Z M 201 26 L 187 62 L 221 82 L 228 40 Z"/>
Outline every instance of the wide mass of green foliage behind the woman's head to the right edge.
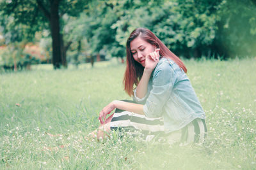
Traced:
<path fill-rule="evenodd" d="M 238 4 L 221 0 L 122 0 L 95 4 L 100 8 L 90 6 L 90 19 L 86 19 L 93 20 L 93 24 L 88 24 L 95 26 L 87 27 L 92 34 L 86 36 L 92 39 L 93 52 L 107 46 L 112 56 L 118 56 L 116 53 L 125 55 L 125 41 L 130 32 L 137 27 L 147 27 L 168 48 L 183 57 L 255 55 L 255 5 L 249 0 Z M 240 11 L 243 11 L 242 15 L 237 16 Z M 107 23 L 104 22 L 106 18 Z M 230 18 L 241 23 L 241 27 L 233 23 L 227 29 L 227 24 L 232 24 Z"/>

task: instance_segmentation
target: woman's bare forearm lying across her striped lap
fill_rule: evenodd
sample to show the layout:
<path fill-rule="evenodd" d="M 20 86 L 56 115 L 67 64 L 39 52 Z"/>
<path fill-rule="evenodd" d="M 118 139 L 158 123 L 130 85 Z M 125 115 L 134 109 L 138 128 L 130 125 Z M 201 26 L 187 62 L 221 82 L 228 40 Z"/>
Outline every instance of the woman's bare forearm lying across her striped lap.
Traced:
<path fill-rule="evenodd" d="M 115 106 L 115 108 L 118 108 L 120 110 L 126 110 L 138 113 L 140 115 L 145 115 L 143 111 L 143 104 L 128 103 L 125 101 L 113 101 L 112 103 Z"/>

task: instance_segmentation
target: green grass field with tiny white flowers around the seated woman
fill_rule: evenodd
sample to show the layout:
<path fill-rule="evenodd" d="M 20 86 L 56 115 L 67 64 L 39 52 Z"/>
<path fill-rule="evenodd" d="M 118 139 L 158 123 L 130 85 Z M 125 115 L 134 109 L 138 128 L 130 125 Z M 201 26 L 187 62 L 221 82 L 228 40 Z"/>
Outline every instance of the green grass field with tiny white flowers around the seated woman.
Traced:
<path fill-rule="evenodd" d="M 122 64 L 1 73 L 0 169 L 256 169 L 256 59 L 185 64 L 207 116 L 203 145 L 86 141 L 106 104 L 131 99 Z"/>

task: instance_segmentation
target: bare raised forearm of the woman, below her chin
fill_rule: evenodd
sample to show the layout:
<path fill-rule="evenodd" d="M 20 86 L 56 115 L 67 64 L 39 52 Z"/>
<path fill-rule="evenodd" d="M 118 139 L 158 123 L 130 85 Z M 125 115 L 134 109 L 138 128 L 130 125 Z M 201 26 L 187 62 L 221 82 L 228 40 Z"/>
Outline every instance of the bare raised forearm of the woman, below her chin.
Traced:
<path fill-rule="evenodd" d="M 143 75 L 141 77 L 140 83 L 137 86 L 136 89 L 136 96 L 142 99 L 143 97 L 146 96 L 147 94 L 147 89 L 148 89 L 148 81 L 150 79 L 152 70 L 147 70 L 144 69 Z"/>

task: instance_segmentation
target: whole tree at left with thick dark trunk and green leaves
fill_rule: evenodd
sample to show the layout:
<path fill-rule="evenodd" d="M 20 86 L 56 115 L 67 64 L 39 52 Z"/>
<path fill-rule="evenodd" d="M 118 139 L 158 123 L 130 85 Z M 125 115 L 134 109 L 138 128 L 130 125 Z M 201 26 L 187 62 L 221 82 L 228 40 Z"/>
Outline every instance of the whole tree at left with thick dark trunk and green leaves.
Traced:
<path fill-rule="evenodd" d="M 60 68 L 61 65 L 67 67 L 65 52 L 67 45 L 64 45 L 61 34 L 63 22 L 61 17 L 67 14 L 77 17 L 79 13 L 86 9 L 89 0 L 72 1 L 72 0 L 12 0 L 1 1 L 1 15 L 3 18 L 1 24 L 4 25 L 4 33 L 19 29 L 21 25 L 26 32 L 19 37 L 33 39 L 36 31 L 50 29 L 52 38 L 52 64 L 54 68 Z M 12 20 L 12 25 L 9 25 Z M 14 22 L 13 22 L 14 20 Z M 19 41 L 14 39 L 13 41 Z"/>

